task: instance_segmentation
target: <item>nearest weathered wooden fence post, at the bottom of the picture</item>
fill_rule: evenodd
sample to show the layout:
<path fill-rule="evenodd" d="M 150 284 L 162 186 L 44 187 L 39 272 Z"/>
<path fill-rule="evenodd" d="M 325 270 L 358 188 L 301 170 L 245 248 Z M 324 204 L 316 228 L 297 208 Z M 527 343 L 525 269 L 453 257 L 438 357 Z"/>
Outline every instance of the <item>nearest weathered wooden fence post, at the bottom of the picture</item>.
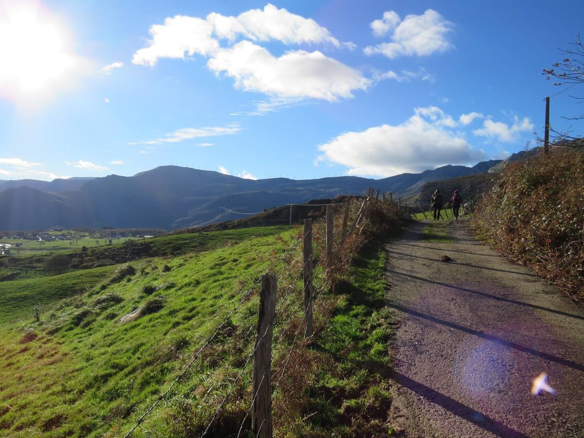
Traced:
<path fill-rule="evenodd" d="M 276 289 L 276 275 L 263 275 L 252 376 L 252 432 L 262 438 L 272 438 L 273 431 L 272 337 L 276 315 Z"/>

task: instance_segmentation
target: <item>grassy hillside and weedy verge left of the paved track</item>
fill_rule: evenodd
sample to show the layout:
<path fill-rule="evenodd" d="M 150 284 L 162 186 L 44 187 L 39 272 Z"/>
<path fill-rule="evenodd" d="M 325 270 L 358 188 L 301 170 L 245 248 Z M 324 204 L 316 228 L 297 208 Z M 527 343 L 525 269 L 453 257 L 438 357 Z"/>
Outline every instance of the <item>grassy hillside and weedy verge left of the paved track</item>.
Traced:
<path fill-rule="evenodd" d="M 86 269 L 0 283 L 0 435 L 123 435 L 193 360 L 134 436 L 192 436 L 209 423 L 209 436 L 237 435 L 250 422 L 248 360 L 268 269 L 278 278 L 274 435 L 388 433 L 392 324 L 380 242 L 399 224 L 380 205 L 369 217 L 338 269 L 315 269 L 308 340 L 300 227 L 152 238 L 143 253 L 127 252 L 129 244 L 89 249 Z M 313 230 L 315 259 L 324 260 L 324 226 Z M 92 267 L 128 254 L 135 258 Z"/>

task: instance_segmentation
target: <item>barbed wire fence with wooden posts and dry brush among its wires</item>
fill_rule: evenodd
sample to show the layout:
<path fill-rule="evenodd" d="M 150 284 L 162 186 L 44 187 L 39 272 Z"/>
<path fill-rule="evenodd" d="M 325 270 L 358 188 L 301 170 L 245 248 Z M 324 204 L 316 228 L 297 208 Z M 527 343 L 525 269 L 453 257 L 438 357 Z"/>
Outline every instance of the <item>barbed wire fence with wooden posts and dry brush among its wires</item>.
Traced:
<path fill-rule="evenodd" d="M 291 244 L 280 253 L 276 260 L 273 260 L 265 270 L 265 273 L 258 279 L 253 280 L 248 287 L 239 288 L 238 292 L 234 294 L 235 297 L 239 297 L 235 306 L 230 311 L 225 310 L 227 316 L 221 320 L 220 324 L 215 325 L 217 328 L 212 331 L 210 336 L 201 341 L 200 347 L 190 357 L 186 366 L 172 380 L 168 388 L 159 394 L 148 409 L 142 413 L 133 427 L 124 435 L 124 438 L 130 437 L 144 423 L 148 415 L 168 398 L 176 384 L 185 377 L 187 371 L 191 369 L 197 360 L 203 360 L 204 351 L 213 343 L 221 331 L 230 324 L 236 312 L 241 310 L 244 304 L 252 299 L 254 292 L 258 291 L 258 288 L 257 325 L 254 327 L 252 323 L 249 323 L 249 326 L 238 328 L 241 329 L 242 333 L 245 332 L 245 335 L 242 336 L 244 340 L 249 338 L 254 328 L 256 329 L 253 348 L 250 348 L 249 352 L 242 356 L 241 361 L 239 361 L 242 365 L 235 376 L 231 373 L 226 373 L 224 378 L 211 382 L 213 375 L 210 373 L 201 384 L 201 387 L 206 391 L 201 397 L 197 398 L 197 402 L 199 404 L 208 402 L 210 405 L 216 406 L 209 412 L 210 419 L 204 428 L 201 427 L 202 433 L 200 435 L 201 437 L 213 436 L 211 434 L 214 431 L 213 427 L 220 416 L 223 415 L 225 406 L 230 402 L 230 398 L 234 397 L 236 390 L 239 388 L 243 391 L 242 394 L 246 393 L 245 388 L 249 390 L 245 381 L 249 381 L 248 373 L 251 373 L 251 404 L 245 409 L 245 413 L 242 412 L 241 422 L 238 422 L 237 436 L 251 432 L 253 436 L 271 437 L 273 431 L 272 397 L 277 388 L 279 388 L 282 378 L 286 376 L 294 350 L 298 348 L 298 345 L 302 345 L 300 340 L 310 340 L 314 334 L 312 328 L 313 303 L 318 299 L 320 293 L 325 290 L 322 285 L 330 286 L 334 280 L 327 277 L 339 274 L 335 271 L 335 268 L 340 263 L 340 252 L 348 251 L 346 248 L 348 245 L 345 244 L 350 237 L 358 239 L 359 235 L 361 235 L 367 222 L 367 211 L 370 204 L 383 202 L 391 205 L 392 208 L 394 207 L 391 193 L 387 197 L 383 193 L 383 200 L 380 199 L 379 195 L 380 190 L 377 190 L 377 196 L 374 196 L 374 190 L 370 189 L 367 196 L 354 197 L 354 199 L 358 200 L 356 203 L 347 199 L 345 203 L 318 206 L 326 208 L 324 221 L 317 221 L 318 230 L 312 227 L 312 219 L 306 218 L 304 220 L 304 231 L 299 232 L 297 238 L 293 238 Z M 340 214 L 335 215 L 335 211 L 339 213 L 339 210 Z M 323 233 L 320 232 L 322 227 L 324 227 L 324 238 Z M 315 231 L 319 232 L 319 238 L 317 245 L 313 246 L 313 234 Z M 294 255 L 301 244 L 303 244 L 302 263 L 298 263 L 300 260 L 294 258 Z M 318 257 L 315 257 L 316 254 L 318 254 Z M 344 256 L 344 258 L 346 257 Z M 317 268 L 319 269 L 319 279 L 321 279 L 322 283 L 321 287 L 318 288 L 320 293 L 314 292 L 312 284 Z M 304 277 L 303 287 L 300 280 L 298 280 L 300 272 L 303 273 Z M 281 280 L 279 297 L 277 297 L 277 277 L 280 277 Z M 304 292 L 304 294 L 301 292 Z M 300 303 L 303 305 L 300 305 Z M 277 331 L 275 342 L 274 329 Z M 302 336 L 303 331 L 304 337 Z M 273 345 L 280 346 L 281 356 L 279 361 L 280 368 L 274 383 L 272 383 L 271 369 Z M 252 364 L 251 367 L 250 364 Z M 206 388 L 206 384 L 209 382 L 211 383 Z M 213 390 L 223 387 L 225 388 L 224 395 L 220 397 L 218 404 L 208 401 L 211 394 L 214 394 Z M 241 404 L 241 400 L 239 400 L 239 403 Z M 251 418 L 251 425 L 248 423 L 249 418 Z M 176 421 L 178 422 L 179 420 L 177 419 Z"/>

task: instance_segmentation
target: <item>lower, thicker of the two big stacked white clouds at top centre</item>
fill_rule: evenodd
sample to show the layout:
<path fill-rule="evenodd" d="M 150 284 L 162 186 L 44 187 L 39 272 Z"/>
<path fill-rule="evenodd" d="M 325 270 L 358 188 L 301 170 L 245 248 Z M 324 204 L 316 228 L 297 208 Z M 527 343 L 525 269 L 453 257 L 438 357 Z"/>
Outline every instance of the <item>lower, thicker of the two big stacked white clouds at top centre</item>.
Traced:
<path fill-rule="evenodd" d="M 234 78 L 237 88 L 281 98 L 335 101 L 351 98 L 353 90 L 366 90 L 373 82 L 319 51 L 288 51 L 276 58 L 250 41 L 218 51 L 207 65 Z"/>

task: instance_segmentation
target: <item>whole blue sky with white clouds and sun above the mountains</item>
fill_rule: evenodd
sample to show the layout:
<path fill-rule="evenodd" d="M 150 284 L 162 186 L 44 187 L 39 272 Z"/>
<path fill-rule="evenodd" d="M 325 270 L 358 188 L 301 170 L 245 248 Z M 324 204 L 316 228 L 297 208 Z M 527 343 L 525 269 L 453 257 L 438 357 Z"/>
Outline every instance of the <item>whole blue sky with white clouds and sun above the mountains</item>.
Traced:
<path fill-rule="evenodd" d="M 576 1 L 0 0 L 0 179 L 382 178 L 504 158 L 543 133 L 562 88 L 541 69 L 583 16 Z M 579 111 L 555 96 L 552 126 Z"/>

